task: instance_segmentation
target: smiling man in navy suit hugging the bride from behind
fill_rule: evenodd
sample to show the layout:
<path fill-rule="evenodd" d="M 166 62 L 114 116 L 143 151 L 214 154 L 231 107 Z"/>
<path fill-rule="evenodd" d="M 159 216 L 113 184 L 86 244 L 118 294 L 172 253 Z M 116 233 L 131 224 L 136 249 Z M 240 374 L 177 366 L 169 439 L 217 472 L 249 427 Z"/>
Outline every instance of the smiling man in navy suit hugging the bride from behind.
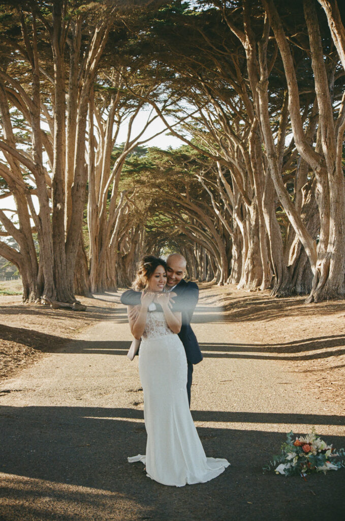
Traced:
<path fill-rule="evenodd" d="M 190 388 L 193 377 L 193 364 L 198 364 L 202 360 L 202 354 L 193 329 L 190 327 L 190 320 L 193 316 L 195 306 L 199 298 L 199 288 L 195 282 L 183 280 L 186 270 L 186 259 L 179 253 L 173 253 L 167 258 L 167 285 L 165 290 L 176 293 L 174 298 L 173 311 L 181 311 L 182 326 L 178 333 L 186 351 L 188 374 L 187 374 L 187 394 L 190 406 Z M 141 293 L 134 290 L 127 290 L 121 295 L 122 304 L 136 306 L 140 304 Z M 150 305 L 151 306 L 151 305 Z"/>

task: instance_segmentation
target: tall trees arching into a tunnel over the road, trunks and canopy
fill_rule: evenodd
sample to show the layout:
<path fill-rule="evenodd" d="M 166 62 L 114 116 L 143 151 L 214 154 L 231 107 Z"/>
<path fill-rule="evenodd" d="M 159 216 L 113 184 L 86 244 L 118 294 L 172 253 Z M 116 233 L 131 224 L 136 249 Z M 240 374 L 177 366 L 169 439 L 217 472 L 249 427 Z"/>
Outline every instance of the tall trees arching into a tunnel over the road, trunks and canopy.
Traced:
<path fill-rule="evenodd" d="M 0 196 L 17 211 L 0 210 L 0 254 L 24 300 L 73 304 L 174 250 L 199 280 L 343 298 L 342 3 L 1 7 Z M 149 147 L 157 120 L 179 148 Z"/>

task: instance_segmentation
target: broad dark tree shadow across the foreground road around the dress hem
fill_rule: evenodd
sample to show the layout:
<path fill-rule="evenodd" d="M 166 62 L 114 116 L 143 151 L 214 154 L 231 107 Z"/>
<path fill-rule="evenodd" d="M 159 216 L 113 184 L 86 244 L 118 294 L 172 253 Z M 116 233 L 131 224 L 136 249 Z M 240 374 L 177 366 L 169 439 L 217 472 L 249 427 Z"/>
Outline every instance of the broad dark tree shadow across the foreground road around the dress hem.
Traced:
<path fill-rule="evenodd" d="M 194 411 L 193 416 L 213 422 L 300 422 L 298 415 L 284 414 Z M 316 425 L 338 421 L 325 415 L 309 420 Z M 0 497 L 6 497 L 0 514 L 6 521 L 306 521 L 311 512 L 313 521 L 338 521 L 345 514 L 345 470 L 311 476 L 306 482 L 262 475 L 262 466 L 285 439 L 274 430 L 198 428 L 207 455 L 226 457 L 231 467 L 207 483 L 176 488 L 159 485 L 145 476 L 142 464 L 126 461 L 129 455 L 145 453 L 142 411 L 2 406 L 0 421 L 6 440 L 0 447 Z M 336 448 L 345 444 L 339 436 L 326 441 Z M 325 493 L 326 483 L 331 493 Z"/>

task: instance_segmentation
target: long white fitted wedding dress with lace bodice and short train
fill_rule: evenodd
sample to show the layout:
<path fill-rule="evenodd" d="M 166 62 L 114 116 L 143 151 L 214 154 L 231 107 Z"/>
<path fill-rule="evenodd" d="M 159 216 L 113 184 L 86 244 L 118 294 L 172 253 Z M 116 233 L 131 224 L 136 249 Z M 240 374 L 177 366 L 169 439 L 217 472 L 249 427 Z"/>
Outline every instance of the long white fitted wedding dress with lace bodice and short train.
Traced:
<path fill-rule="evenodd" d="M 147 314 L 139 375 L 144 391 L 146 455 L 128 461 L 141 461 L 148 477 L 176 487 L 203 483 L 221 474 L 229 463 L 205 455 L 189 411 L 186 353 L 162 312 Z"/>

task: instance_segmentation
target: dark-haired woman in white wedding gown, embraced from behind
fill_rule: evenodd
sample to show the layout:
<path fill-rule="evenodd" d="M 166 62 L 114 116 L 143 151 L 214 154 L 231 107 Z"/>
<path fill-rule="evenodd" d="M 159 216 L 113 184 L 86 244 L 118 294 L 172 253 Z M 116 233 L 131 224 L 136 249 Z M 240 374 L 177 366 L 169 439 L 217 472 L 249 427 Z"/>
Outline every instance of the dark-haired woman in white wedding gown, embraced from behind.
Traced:
<path fill-rule="evenodd" d="M 145 256 L 133 283 L 142 291 L 141 305 L 127 306 L 132 334 L 142 338 L 139 375 L 147 432 L 146 455 L 128 461 L 143 462 L 147 476 L 162 485 L 183 487 L 215 478 L 229 463 L 206 457 L 189 411 L 187 359 L 177 336 L 181 312 L 172 311 L 170 294 L 164 293 L 166 267 L 163 259 Z"/>

